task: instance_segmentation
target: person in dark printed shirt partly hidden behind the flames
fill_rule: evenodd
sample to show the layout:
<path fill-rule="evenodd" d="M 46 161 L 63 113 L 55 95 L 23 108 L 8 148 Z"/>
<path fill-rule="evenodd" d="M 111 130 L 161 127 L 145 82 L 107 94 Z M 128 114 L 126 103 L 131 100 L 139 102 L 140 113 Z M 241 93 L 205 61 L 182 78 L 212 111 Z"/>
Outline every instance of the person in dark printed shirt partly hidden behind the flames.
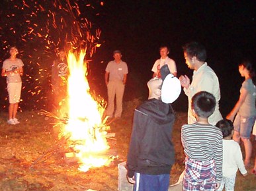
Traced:
<path fill-rule="evenodd" d="M 58 107 L 67 94 L 68 65 L 65 51 L 60 49 L 58 59 L 52 65 L 52 92 L 54 94 L 54 105 Z"/>

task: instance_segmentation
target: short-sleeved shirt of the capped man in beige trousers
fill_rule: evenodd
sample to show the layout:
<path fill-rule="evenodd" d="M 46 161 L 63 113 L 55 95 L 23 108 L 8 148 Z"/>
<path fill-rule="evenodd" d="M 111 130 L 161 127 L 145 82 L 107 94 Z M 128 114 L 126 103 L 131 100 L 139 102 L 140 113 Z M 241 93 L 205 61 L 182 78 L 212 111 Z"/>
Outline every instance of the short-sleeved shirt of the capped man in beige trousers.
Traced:
<path fill-rule="evenodd" d="M 120 63 L 110 61 L 107 65 L 106 72 L 109 72 L 109 81 L 122 81 L 124 79 L 124 74 L 128 74 L 128 67 L 123 61 Z"/>

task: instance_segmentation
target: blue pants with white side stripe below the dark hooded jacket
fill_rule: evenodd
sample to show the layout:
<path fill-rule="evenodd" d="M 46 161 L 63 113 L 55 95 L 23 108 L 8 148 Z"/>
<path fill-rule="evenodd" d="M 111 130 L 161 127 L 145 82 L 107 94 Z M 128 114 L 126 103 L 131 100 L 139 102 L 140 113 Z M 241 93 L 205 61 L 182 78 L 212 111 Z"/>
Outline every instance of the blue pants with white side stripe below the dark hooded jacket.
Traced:
<path fill-rule="evenodd" d="M 135 180 L 134 191 L 167 191 L 169 188 L 170 174 L 145 175 L 135 173 Z"/>

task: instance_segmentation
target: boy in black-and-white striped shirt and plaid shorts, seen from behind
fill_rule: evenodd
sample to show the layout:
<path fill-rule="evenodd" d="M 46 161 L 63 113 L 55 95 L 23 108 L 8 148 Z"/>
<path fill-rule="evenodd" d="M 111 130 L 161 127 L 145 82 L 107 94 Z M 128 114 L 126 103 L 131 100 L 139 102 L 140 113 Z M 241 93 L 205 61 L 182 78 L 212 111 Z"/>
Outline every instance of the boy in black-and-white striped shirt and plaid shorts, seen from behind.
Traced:
<path fill-rule="evenodd" d="M 196 123 L 181 128 L 185 152 L 183 190 L 216 190 L 222 180 L 222 132 L 208 123 L 214 113 L 216 99 L 208 92 L 192 97 Z"/>

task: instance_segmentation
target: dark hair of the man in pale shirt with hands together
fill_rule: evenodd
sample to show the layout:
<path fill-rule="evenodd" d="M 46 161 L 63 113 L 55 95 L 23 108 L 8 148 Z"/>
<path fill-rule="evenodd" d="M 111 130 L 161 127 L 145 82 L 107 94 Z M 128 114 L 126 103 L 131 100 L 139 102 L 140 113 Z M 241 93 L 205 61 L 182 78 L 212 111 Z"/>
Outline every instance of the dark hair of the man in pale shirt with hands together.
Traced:
<path fill-rule="evenodd" d="M 187 43 L 186 45 L 184 45 L 183 51 L 187 53 L 187 55 L 189 55 L 189 57 L 191 58 L 196 57 L 198 61 L 206 61 L 206 49 L 202 44 L 196 41 L 192 41 L 191 43 Z"/>

